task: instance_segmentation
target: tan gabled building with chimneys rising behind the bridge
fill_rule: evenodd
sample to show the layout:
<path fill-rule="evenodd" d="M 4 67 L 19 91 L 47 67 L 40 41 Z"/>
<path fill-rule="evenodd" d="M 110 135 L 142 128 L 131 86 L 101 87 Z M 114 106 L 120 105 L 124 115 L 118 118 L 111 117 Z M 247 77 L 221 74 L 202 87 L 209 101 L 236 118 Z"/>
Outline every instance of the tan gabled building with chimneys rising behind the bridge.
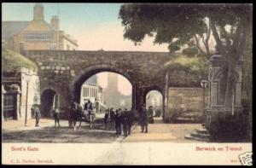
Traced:
<path fill-rule="evenodd" d="M 50 23 L 44 20 L 44 6 L 36 3 L 31 21 L 3 21 L 2 45 L 22 53 L 23 50 L 75 50 L 78 42 L 60 30 L 60 20 L 53 15 Z"/>

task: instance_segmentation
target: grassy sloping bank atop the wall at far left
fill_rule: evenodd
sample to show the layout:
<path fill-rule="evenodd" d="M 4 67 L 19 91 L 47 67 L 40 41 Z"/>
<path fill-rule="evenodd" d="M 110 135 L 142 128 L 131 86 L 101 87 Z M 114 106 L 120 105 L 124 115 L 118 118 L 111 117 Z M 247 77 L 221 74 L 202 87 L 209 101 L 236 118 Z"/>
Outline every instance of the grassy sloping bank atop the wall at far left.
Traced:
<path fill-rule="evenodd" d="M 38 72 L 38 66 L 23 55 L 9 49 L 2 49 L 2 71 L 15 72 L 20 67 L 26 67 Z"/>

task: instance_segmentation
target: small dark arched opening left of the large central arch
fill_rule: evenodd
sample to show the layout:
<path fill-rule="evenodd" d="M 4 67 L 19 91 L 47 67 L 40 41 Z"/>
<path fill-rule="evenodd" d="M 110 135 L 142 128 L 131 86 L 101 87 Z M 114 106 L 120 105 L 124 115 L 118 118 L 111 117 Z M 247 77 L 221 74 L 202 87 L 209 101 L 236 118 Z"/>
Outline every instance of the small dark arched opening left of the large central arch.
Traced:
<path fill-rule="evenodd" d="M 44 90 L 41 96 L 41 115 L 42 117 L 51 117 L 51 110 L 57 107 L 58 96 L 55 90 Z"/>

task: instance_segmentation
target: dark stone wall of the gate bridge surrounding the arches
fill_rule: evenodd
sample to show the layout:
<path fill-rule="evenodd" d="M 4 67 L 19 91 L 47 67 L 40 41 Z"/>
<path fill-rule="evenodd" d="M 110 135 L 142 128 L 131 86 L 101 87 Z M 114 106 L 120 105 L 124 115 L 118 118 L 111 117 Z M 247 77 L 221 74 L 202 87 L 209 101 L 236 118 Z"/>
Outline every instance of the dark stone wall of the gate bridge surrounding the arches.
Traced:
<path fill-rule="evenodd" d="M 72 96 L 80 100 L 81 85 L 97 72 L 117 72 L 127 78 L 133 88 L 132 107 L 138 109 L 146 101 L 148 91 L 164 93 L 164 64 L 170 59 L 167 52 L 103 50 L 27 50 L 25 55 L 38 63 L 41 95 L 44 90 L 54 90 L 59 97 L 61 113 L 67 112 Z M 198 80 L 198 75 L 172 71 L 169 86 L 198 87 Z"/>

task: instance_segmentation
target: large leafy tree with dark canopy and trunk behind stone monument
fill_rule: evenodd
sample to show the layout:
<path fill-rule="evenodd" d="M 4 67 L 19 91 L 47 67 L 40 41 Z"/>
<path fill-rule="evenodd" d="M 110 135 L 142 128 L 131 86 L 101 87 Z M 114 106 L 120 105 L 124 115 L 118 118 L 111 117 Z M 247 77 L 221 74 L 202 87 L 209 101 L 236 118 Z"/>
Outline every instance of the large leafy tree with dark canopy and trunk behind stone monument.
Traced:
<path fill-rule="evenodd" d="M 119 18 L 125 26 L 124 38 L 141 43 L 146 35 L 154 36 L 154 43 L 168 43 L 170 51 L 181 49 L 193 40 L 196 43 L 206 32 L 210 36 L 211 30 L 220 54 L 227 61 L 224 104 L 230 109 L 234 72 L 245 50 L 248 26 L 252 23 L 252 5 L 124 4 Z M 203 41 L 209 40 L 209 36 Z"/>

